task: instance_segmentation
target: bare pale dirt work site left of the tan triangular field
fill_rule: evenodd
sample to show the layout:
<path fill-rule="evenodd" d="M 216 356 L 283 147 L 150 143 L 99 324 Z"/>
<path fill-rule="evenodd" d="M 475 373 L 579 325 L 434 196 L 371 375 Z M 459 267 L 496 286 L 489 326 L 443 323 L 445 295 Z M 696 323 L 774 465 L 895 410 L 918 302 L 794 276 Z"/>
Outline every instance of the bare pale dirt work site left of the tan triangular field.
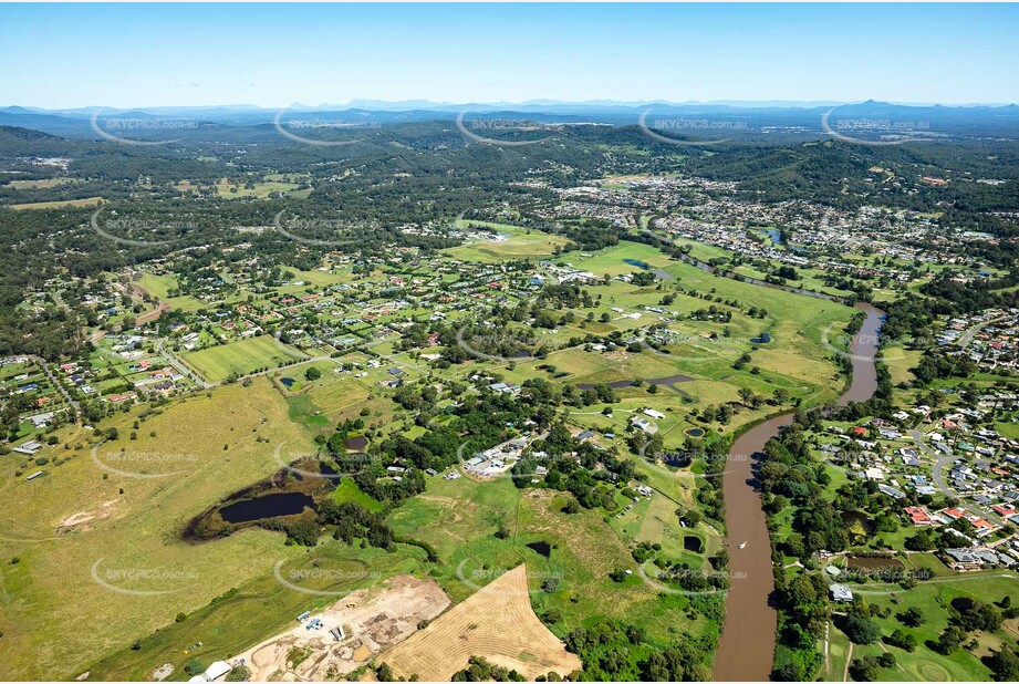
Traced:
<path fill-rule="evenodd" d="M 441 587 L 410 574 L 392 578 L 379 591 L 355 591 L 312 618 L 321 630 L 302 624 L 241 653 L 252 681 L 324 681 L 344 675 L 417 631 L 449 605 Z M 336 641 L 329 632 L 342 625 Z M 232 659 L 231 662 L 237 659 Z M 299 661 L 297 665 L 293 661 Z"/>

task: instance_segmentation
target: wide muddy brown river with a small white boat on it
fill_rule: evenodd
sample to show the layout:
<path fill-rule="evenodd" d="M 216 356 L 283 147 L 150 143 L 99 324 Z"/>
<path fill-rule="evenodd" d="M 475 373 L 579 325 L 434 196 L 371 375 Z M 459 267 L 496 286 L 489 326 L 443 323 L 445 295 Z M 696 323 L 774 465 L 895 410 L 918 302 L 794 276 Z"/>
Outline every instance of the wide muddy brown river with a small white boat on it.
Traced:
<path fill-rule="evenodd" d="M 853 339 L 853 379 L 839 397 L 840 406 L 865 401 L 877 388 L 874 354 L 884 312 L 863 303 L 856 308 L 866 313 L 866 320 Z M 765 444 L 791 424 L 792 417 L 787 413 L 753 426 L 729 450 L 722 491 L 731 581 L 726 594 L 726 622 L 715 654 L 714 677 L 718 682 L 765 682 L 771 674 L 778 615 L 769 605 L 774 591 L 771 542 L 753 471 Z M 745 541 L 746 548 L 738 548 Z"/>

